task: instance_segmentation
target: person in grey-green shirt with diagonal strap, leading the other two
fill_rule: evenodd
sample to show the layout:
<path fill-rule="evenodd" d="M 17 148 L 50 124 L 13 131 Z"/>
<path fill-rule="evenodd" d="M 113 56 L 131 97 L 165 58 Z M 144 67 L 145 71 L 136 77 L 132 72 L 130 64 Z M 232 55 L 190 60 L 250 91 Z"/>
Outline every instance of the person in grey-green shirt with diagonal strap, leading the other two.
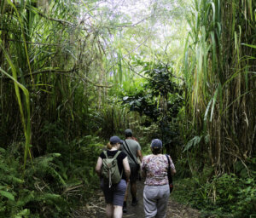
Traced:
<path fill-rule="evenodd" d="M 120 146 L 120 150 L 125 152 L 128 156 L 128 162 L 131 169 L 131 176 L 130 176 L 130 183 L 131 183 L 131 205 L 136 206 L 137 205 L 137 186 L 136 181 L 138 177 L 138 172 L 140 170 L 140 164 L 137 162 L 137 157 L 140 159 L 140 161 L 143 160 L 143 154 L 140 144 L 134 140 L 132 136 L 131 129 L 125 129 L 125 141 Z M 129 186 L 129 184 L 128 184 Z M 127 198 L 128 198 L 128 186 L 127 190 L 125 192 L 125 201 L 123 206 L 124 213 L 127 212 Z"/>

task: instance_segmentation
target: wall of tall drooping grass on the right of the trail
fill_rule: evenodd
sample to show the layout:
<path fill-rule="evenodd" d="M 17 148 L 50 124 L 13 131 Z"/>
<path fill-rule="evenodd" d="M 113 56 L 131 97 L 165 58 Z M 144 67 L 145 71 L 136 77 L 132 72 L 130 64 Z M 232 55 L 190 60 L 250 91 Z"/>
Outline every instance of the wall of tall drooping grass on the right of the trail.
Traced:
<path fill-rule="evenodd" d="M 251 158 L 255 148 L 253 1 L 195 0 L 184 51 L 187 112 L 218 172 Z"/>

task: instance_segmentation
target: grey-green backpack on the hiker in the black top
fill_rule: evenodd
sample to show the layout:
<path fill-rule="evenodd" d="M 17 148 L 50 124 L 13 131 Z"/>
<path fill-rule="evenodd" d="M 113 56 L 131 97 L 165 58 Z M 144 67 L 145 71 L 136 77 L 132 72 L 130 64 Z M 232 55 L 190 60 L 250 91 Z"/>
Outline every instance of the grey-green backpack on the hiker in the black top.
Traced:
<path fill-rule="evenodd" d="M 108 183 L 108 186 L 111 187 L 112 184 L 117 184 L 122 179 L 122 174 L 119 173 L 117 161 L 120 151 L 118 151 L 113 158 L 108 158 L 107 151 L 104 151 L 103 153 L 105 154 L 106 158 L 102 160 L 102 177 L 105 183 Z"/>

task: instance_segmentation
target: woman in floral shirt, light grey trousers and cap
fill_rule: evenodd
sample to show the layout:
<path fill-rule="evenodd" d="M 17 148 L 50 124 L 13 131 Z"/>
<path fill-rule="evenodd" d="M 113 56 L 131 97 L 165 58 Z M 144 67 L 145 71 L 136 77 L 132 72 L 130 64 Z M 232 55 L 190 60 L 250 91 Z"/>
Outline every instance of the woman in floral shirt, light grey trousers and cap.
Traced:
<path fill-rule="evenodd" d="M 153 154 L 143 158 L 142 172 L 146 177 L 143 190 L 143 204 L 145 218 L 166 217 L 166 208 L 170 196 L 167 177 L 168 159 L 162 152 L 162 141 L 154 139 L 150 146 Z M 172 175 L 176 173 L 175 166 L 170 159 Z"/>

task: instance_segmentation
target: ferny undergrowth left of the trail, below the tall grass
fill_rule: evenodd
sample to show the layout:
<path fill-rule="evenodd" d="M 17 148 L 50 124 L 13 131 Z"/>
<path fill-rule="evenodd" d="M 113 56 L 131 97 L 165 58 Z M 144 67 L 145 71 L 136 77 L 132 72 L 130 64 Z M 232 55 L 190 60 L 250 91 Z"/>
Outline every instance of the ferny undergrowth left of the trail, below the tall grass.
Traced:
<path fill-rule="evenodd" d="M 97 141 L 91 135 L 68 143 L 53 137 L 48 146 L 55 151 L 33 158 L 25 170 L 18 146 L 0 147 L 0 217 L 69 217 L 98 186 Z"/>

